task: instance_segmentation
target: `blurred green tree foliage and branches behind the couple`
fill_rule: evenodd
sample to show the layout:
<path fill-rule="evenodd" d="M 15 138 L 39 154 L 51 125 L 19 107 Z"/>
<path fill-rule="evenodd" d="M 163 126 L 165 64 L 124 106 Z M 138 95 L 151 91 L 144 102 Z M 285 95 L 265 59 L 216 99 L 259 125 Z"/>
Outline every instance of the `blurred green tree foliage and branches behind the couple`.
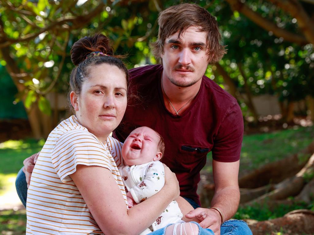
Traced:
<path fill-rule="evenodd" d="M 14 0 L 0 1 L 1 119 L 28 118 L 33 136 L 46 137 L 64 117 L 73 68 L 73 43 L 106 34 L 128 68 L 158 61 L 149 43 L 156 40 L 158 13 L 176 0 Z M 206 75 L 238 100 L 243 116 L 257 124 L 252 101 L 276 96 L 281 121 L 295 115 L 314 120 L 314 1 L 192 1 L 218 20 L 228 53 Z M 295 112 L 295 104 L 305 105 Z"/>

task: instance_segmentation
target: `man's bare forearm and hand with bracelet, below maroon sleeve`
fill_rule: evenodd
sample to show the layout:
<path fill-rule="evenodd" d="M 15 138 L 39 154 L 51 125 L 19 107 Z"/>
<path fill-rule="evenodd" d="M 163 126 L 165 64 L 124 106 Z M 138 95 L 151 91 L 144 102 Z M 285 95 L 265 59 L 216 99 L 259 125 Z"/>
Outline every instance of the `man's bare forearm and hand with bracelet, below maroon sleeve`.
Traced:
<path fill-rule="evenodd" d="M 240 191 L 238 185 L 240 160 L 236 162 L 218 162 L 213 160 L 213 174 L 215 183 L 215 193 L 211 201 L 211 208 L 197 208 L 189 212 L 186 217 L 198 217 L 202 222 L 200 226 L 210 228 L 215 234 L 220 234 L 222 223 L 230 219 L 237 211 L 240 202 Z M 220 212 L 219 212 L 220 211 Z"/>

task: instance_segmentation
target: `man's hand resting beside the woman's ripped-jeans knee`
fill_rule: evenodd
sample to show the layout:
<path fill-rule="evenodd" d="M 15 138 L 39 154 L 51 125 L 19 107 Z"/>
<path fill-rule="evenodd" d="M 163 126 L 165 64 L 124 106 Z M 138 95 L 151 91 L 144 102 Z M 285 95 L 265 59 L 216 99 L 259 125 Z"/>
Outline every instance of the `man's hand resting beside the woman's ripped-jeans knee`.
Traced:
<path fill-rule="evenodd" d="M 220 235 L 221 217 L 218 211 L 207 208 L 196 208 L 187 213 L 185 217 L 189 219 L 197 217 L 202 221 L 199 223 L 202 228 L 209 228 L 213 230 L 215 235 Z"/>

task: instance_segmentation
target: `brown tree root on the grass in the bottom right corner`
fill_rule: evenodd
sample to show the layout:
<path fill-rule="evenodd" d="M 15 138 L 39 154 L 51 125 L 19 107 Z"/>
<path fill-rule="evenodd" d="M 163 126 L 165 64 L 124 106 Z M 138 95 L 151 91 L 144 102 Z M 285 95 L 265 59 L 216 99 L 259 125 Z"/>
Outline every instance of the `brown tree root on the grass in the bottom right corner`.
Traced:
<path fill-rule="evenodd" d="M 253 235 L 265 234 L 314 234 L 314 212 L 309 210 L 295 210 L 283 217 L 256 221 L 246 220 Z"/>

